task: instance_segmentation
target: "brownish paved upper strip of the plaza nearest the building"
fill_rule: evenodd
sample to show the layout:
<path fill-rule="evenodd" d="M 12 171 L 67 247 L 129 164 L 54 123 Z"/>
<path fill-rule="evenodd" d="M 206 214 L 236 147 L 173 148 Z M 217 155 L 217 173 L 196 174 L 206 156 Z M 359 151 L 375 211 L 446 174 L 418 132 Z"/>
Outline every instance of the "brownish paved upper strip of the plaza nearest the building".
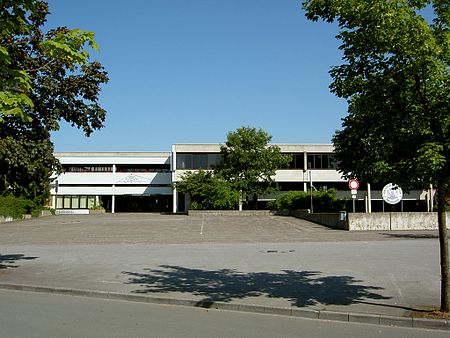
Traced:
<path fill-rule="evenodd" d="M 348 232 L 286 216 L 61 215 L 0 224 L 1 244 L 200 244 L 383 241 L 437 231 Z"/>

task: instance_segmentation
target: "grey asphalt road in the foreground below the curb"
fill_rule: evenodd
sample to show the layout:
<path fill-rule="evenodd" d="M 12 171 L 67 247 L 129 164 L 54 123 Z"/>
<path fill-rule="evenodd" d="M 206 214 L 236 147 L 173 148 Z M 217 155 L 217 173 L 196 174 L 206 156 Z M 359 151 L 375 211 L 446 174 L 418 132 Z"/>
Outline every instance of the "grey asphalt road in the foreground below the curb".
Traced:
<path fill-rule="evenodd" d="M 448 337 L 418 328 L 308 320 L 0 290 L 0 337 Z"/>

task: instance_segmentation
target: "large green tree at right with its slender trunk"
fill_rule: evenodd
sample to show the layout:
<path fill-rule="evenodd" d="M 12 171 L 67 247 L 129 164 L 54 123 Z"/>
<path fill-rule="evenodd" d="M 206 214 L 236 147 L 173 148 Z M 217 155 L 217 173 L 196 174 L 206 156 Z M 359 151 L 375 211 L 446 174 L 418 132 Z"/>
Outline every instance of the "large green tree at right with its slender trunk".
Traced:
<path fill-rule="evenodd" d="M 434 19 L 421 10 L 432 5 Z M 437 187 L 441 310 L 449 311 L 445 220 L 450 183 L 450 11 L 446 0 L 309 0 L 308 19 L 337 21 L 344 63 L 330 89 L 348 102 L 333 137 L 346 178 Z"/>

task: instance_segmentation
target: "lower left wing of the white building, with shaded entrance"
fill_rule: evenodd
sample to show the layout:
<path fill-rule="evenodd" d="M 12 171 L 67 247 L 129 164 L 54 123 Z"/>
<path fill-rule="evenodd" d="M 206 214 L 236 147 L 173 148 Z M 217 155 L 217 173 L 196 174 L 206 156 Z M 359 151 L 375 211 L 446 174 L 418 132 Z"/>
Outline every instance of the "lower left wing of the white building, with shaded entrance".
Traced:
<path fill-rule="evenodd" d="M 170 152 L 55 153 L 63 167 L 51 190 L 59 210 L 172 210 Z"/>

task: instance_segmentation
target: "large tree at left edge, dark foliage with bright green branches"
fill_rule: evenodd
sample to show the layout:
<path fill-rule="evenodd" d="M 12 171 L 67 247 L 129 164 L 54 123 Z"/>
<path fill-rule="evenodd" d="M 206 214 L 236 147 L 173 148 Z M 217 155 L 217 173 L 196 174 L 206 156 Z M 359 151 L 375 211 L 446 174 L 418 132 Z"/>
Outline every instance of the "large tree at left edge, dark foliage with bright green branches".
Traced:
<path fill-rule="evenodd" d="M 101 128 L 106 112 L 98 95 L 108 76 L 90 61 L 93 33 L 65 27 L 43 33 L 46 2 L 0 2 L 0 194 L 42 200 L 59 169 L 50 132 L 61 120 L 87 136 Z"/>

